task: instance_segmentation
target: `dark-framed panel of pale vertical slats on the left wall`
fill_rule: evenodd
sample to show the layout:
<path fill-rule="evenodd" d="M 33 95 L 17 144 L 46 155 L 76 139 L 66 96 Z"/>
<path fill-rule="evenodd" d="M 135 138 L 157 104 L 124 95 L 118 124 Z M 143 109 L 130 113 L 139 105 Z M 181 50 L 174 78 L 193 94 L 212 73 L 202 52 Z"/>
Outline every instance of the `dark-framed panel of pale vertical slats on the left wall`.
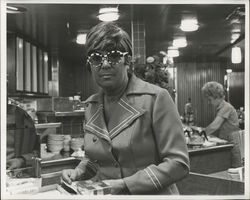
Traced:
<path fill-rule="evenodd" d="M 9 95 L 48 95 L 48 51 L 16 33 L 7 34 L 7 48 Z"/>

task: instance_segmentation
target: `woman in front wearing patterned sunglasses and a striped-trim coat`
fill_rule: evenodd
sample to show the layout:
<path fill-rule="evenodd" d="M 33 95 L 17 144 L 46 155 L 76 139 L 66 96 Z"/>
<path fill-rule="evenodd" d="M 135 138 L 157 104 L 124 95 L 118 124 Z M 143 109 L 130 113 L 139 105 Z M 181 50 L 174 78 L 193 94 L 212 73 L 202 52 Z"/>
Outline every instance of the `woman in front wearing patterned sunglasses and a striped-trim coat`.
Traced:
<path fill-rule="evenodd" d="M 85 101 L 85 158 L 64 170 L 63 179 L 92 173 L 112 194 L 179 194 L 175 183 L 188 174 L 189 157 L 167 90 L 132 73 L 131 40 L 117 25 L 93 27 L 86 49 L 101 90 Z"/>

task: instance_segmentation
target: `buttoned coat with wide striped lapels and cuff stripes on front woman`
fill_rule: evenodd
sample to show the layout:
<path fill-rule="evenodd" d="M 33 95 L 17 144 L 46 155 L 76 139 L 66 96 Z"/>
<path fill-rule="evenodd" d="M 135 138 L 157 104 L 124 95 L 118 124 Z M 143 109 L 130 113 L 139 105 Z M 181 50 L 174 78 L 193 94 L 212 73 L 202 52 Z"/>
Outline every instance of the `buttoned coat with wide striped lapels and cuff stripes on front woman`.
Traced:
<path fill-rule="evenodd" d="M 86 100 L 85 154 L 98 180 L 123 178 L 131 194 L 178 194 L 189 172 L 182 124 L 167 90 L 134 75 L 106 126 L 103 94 Z"/>

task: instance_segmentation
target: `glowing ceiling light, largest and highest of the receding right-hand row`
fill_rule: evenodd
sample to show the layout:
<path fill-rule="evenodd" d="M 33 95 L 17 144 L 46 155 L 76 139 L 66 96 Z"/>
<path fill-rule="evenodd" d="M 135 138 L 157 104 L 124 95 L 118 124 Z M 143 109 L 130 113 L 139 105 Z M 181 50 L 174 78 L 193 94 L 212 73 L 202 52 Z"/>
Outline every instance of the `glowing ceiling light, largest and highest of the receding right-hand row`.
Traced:
<path fill-rule="evenodd" d="M 182 15 L 180 29 L 185 32 L 196 31 L 199 28 L 197 17 L 194 13 L 184 13 Z"/>

